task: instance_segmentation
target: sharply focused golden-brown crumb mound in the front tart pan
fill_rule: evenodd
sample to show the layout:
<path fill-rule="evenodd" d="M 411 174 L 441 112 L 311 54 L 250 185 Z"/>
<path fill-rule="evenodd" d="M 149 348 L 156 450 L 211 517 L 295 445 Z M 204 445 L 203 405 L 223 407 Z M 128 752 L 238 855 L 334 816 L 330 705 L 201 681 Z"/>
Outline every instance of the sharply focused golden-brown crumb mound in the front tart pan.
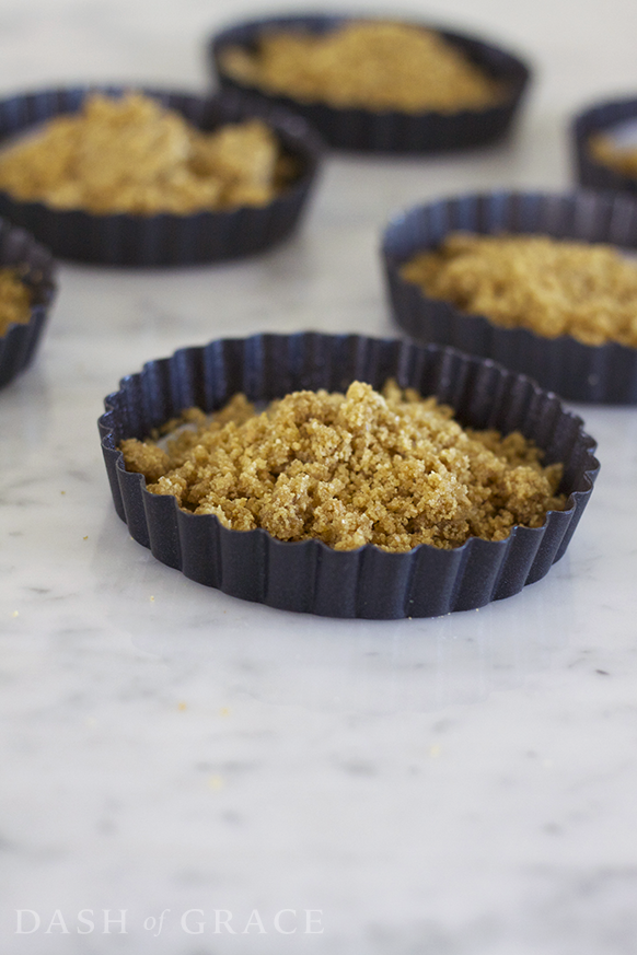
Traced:
<path fill-rule="evenodd" d="M 561 465 L 543 467 L 520 432 L 472 431 L 452 416 L 393 381 L 382 394 L 354 382 L 345 395 L 294 392 L 262 414 L 235 395 L 211 420 L 188 409 L 169 422 L 165 450 L 159 434 L 120 449 L 149 491 L 187 511 L 336 550 L 500 540 L 564 509 Z"/>

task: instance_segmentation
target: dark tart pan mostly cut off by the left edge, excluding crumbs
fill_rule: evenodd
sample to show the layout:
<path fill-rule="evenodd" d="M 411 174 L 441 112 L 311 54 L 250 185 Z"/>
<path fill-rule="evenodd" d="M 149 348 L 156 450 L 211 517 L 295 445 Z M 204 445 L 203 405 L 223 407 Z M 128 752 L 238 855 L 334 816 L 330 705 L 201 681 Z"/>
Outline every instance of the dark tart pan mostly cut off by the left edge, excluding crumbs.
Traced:
<path fill-rule="evenodd" d="M 31 318 L 0 336 L 0 388 L 26 369 L 35 356 L 56 293 L 50 252 L 24 229 L 0 219 L 0 267 L 15 266 L 31 290 Z"/>

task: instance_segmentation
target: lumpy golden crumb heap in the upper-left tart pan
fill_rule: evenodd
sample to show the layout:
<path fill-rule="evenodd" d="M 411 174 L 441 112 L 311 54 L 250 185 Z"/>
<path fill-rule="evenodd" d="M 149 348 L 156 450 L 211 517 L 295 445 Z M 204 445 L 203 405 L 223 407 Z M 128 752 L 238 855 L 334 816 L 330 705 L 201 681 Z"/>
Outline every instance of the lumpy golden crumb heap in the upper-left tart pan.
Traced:
<path fill-rule="evenodd" d="M 86 97 L 0 153 L 0 189 L 94 213 L 265 206 L 292 173 L 259 119 L 201 132 L 141 93 Z"/>

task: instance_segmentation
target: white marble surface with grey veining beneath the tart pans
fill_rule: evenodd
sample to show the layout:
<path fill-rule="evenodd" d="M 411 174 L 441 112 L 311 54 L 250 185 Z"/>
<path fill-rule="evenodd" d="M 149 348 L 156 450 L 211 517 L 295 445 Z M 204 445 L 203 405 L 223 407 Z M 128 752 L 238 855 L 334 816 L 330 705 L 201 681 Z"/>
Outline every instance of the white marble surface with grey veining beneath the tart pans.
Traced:
<path fill-rule="evenodd" d="M 202 90 L 208 33 L 269 9 L 0 0 L 0 92 Z M 637 93 L 633 0 L 401 9 L 533 60 L 510 144 L 332 158 L 299 236 L 251 261 L 63 266 L 37 364 L 0 394 L 3 955 L 637 951 L 635 409 L 580 409 L 602 474 L 551 574 L 433 620 L 227 597 L 158 563 L 109 500 L 95 420 L 123 374 L 230 333 L 390 333 L 377 246 L 391 211 L 561 188 L 568 117 Z M 274 924 L 285 909 L 292 934 Z M 124 923 L 105 931 L 105 910 Z M 215 933 L 221 910 L 234 934 Z"/>

